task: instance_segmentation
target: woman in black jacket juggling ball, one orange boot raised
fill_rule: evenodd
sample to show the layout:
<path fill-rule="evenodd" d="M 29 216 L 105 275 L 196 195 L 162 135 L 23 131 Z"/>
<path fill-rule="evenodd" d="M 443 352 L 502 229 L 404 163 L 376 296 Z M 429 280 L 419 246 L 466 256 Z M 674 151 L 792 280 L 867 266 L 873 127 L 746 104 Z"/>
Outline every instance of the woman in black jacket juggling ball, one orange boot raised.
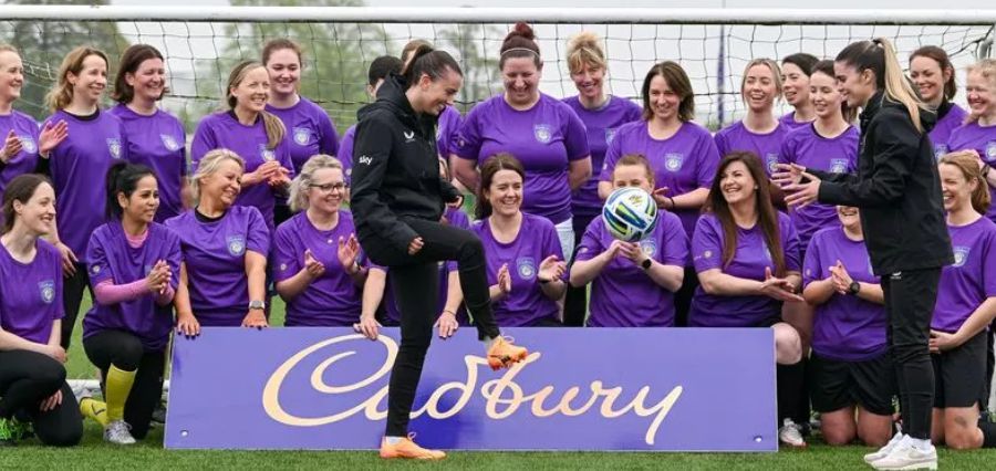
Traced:
<path fill-rule="evenodd" d="M 439 222 L 446 202 L 460 193 L 439 176 L 436 122 L 463 85 L 459 65 L 443 51 L 422 45 L 402 75 L 390 76 L 377 101 L 360 109 L 353 147 L 353 218 L 370 259 L 388 266 L 401 307 L 401 346 L 387 388 L 387 431 L 382 458 L 438 460 L 446 454 L 415 444 L 408 416 L 436 321 L 438 265 L 459 264 L 467 310 L 487 347 L 492 369 L 526 358 L 526 348 L 501 337 L 491 315 L 484 247 L 471 232 Z M 354 326 L 371 339 L 377 323 Z"/>

